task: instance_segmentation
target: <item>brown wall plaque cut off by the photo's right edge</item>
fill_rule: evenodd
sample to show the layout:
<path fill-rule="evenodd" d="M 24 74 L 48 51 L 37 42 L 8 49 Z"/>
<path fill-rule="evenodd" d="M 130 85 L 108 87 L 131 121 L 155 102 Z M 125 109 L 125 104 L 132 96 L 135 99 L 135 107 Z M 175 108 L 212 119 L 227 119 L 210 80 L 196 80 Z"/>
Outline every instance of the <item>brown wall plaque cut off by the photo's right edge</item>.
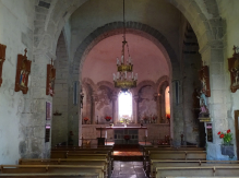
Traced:
<path fill-rule="evenodd" d="M 230 72 L 230 91 L 235 93 L 239 88 L 239 52 L 234 46 L 234 56 L 228 58 L 228 70 Z"/>

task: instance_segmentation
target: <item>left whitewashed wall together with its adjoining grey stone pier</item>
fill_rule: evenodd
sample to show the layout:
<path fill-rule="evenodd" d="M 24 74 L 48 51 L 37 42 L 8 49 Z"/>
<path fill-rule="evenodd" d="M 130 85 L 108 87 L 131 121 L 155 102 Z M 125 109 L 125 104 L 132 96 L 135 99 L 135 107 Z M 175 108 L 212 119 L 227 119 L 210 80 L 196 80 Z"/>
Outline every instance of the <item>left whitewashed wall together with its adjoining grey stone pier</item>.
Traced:
<path fill-rule="evenodd" d="M 47 157 L 50 146 L 45 143 L 47 63 L 40 56 L 33 56 L 35 1 L 1 0 L 0 16 L 0 43 L 7 45 L 0 87 L 0 164 L 16 164 L 20 157 Z M 24 54 L 25 48 L 32 71 L 29 90 L 23 95 L 14 92 L 14 85 L 17 54 Z M 37 60 L 41 62 L 36 68 Z"/>

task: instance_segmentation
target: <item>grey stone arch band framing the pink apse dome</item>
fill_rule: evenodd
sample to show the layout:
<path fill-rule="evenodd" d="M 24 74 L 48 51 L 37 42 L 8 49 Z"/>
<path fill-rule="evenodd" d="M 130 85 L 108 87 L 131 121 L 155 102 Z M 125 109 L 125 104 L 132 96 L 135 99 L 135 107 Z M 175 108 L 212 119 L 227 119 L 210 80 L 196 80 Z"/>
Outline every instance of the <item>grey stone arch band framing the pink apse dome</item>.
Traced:
<path fill-rule="evenodd" d="M 98 27 L 91 35 L 88 35 L 77 47 L 77 50 L 74 54 L 73 74 L 81 75 L 84 60 L 87 54 L 97 43 L 109 36 L 122 34 L 123 33 L 122 27 L 123 27 L 122 22 L 113 22 L 106 24 L 101 27 Z M 139 22 L 127 22 L 126 27 L 127 27 L 127 33 L 145 37 L 152 43 L 154 43 L 162 50 L 168 63 L 170 73 L 171 71 L 174 71 L 172 67 L 179 63 L 179 59 L 164 35 L 162 35 L 155 28 Z"/>

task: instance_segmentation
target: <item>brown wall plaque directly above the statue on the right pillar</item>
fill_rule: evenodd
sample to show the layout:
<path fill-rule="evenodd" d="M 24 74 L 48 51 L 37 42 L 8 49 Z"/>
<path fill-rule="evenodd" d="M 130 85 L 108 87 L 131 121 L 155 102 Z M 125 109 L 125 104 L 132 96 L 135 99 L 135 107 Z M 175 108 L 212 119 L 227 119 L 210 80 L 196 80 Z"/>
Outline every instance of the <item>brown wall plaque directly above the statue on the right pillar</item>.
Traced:
<path fill-rule="evenodd" d="M 211 96 L 210 88 L 210 70 L 207 66 L 203 66 L 199 71 L 200 81 L 202 84 L 201 92 L 205 94 L 206 97 Z"/>

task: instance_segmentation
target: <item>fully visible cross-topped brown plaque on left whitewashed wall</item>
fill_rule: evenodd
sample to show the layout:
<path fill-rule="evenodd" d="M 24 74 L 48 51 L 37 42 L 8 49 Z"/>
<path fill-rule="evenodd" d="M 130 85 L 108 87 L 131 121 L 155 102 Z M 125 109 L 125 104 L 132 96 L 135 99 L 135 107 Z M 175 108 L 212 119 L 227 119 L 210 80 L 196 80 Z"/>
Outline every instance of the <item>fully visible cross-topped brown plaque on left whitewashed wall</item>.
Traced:
<path fill-rule="evenodd" d="M 15 92 L 22 91 L 23 94 L 26 94 L 28 91 L 28 75 L 31 73 L 32 61 L 27 60 L 25 49 L 25 55 L 17 55 L 17 66 L 15 74 Z"/>

